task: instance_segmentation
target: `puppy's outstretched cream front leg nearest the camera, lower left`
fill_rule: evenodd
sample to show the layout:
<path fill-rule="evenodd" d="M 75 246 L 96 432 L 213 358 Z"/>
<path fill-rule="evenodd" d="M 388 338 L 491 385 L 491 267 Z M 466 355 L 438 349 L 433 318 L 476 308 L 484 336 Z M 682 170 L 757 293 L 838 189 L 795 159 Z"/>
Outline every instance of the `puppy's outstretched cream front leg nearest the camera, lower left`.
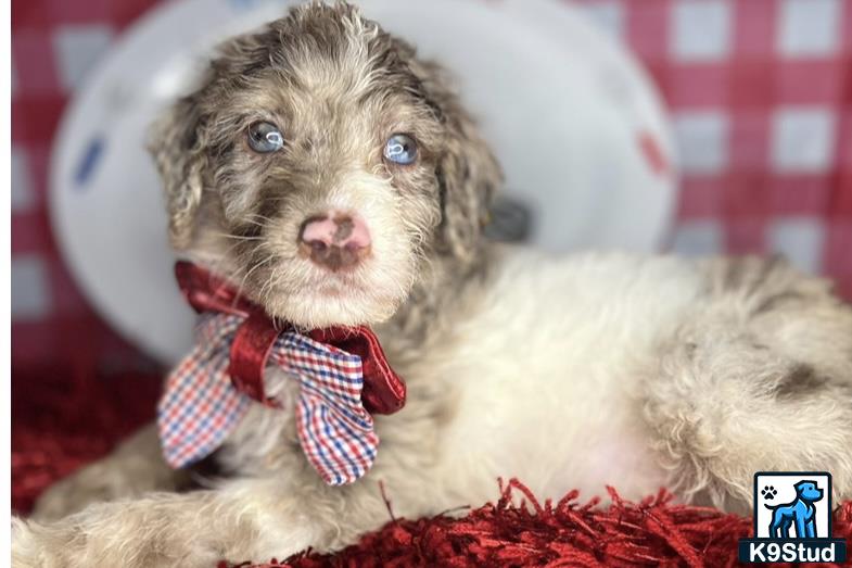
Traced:
<path fill-rule="evenodd" d="M 305 472 L 303 471 L 303 475 Z M 387 520 L 376 483 L 330 488 L 313 471 L 92 505 L 59 521 L 15 520 L 14 568 L 209 568 L 336 548 Z"/>

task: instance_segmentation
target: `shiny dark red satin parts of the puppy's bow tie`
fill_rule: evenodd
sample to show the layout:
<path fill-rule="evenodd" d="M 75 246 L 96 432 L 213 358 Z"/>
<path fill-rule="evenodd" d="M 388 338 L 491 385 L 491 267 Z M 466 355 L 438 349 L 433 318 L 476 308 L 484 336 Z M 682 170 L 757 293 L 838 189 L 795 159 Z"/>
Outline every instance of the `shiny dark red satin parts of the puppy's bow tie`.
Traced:
<path fill-rule="evenodd" d="M 181 292 L 199 312 L 221 312 L 245 317 L 230 350 L 228 374 L 237 390 L 269 404 L 264 369 L 278 336 L 292 326 L 276 328 L 264 310 L 241 296 L 227 281 L 186 261 L 175 265 Z M 341 349 L 361 359 L 361 402 L 370 414 L 393 414 L 405 404 L 405 382 L 394 373 L 376 335 L 366 326 L 329 327 L 305 333 L 310 339 Z"/>

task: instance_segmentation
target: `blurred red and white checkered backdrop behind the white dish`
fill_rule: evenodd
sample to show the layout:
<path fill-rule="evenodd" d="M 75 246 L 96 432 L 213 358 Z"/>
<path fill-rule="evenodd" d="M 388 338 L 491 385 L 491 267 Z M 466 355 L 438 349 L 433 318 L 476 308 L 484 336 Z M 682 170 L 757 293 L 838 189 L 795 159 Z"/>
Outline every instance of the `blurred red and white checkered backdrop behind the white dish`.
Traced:
<path fill-rule="evenodd" d="M 157 370 L 75 287 L 46 200 L 65 103 L 122 29 L 155 3 L 12 2 L 16 380 Z M 852 299 L 852 1 L 573 3 L 638 54 L 672 110 L 684 172 L 672 248 L 781 252 L 835 278 Z"/>

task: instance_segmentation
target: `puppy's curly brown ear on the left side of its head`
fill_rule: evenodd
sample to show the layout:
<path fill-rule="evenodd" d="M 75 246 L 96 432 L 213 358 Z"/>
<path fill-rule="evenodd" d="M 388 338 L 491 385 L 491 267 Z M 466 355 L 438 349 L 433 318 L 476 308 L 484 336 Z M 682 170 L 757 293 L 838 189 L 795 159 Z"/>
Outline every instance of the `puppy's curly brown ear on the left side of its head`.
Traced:
<path fill-rule="evenodd" d="M 171 245 L 178 250 L 192 240 L 207 167 L 199 92 L 178 100 L 154 123 L 148 144 L 165 189 Z"/>

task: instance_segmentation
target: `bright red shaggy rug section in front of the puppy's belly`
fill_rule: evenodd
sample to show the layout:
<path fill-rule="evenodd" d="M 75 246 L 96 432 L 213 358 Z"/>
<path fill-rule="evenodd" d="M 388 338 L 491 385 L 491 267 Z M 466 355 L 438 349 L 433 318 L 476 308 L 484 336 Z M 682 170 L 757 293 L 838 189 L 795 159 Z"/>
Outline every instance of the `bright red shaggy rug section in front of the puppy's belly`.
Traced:
<path fill-rule="evenodd" d="M 751 519 L 676 505 L 664 491 L 631 503 L 607 490 L 612 500 L 608 507 L 598 506 L 598 498 L 581 505 L 576 491 L 558 503 L 539 503 L 512 479 L 496 504 L 463 518 L 392 520 L 334 555 L 308 552 L 280 563 L 222 563 L 220 568 L 739 566 L 737 542 L 751 537 Z M 512 505 L 519 494 L 524 503 Z M 835 512 L 834 531 L 852 544 L 852 502 Z"/>

